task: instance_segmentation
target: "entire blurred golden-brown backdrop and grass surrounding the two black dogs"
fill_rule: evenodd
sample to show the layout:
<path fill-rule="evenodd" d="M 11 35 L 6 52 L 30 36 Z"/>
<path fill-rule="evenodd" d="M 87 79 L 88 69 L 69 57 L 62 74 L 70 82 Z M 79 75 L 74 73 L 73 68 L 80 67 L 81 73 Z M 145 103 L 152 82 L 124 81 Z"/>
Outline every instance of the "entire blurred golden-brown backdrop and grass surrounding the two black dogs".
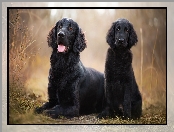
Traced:
<path fill-rule="evenodd" d="M 124 17 L 134 25 L 138 43 L 132 48 L 133 68 L 143 96 L 140 120 L 98 120 L 95 114 L 53 120 L 33 113 L 47 99 L 51 48 L 46 38 L 62 17 L 72 18 L 85 32 L 87 48 L 81 60 L 101 72 L 109 47 L 105 37 L 112 22 Z M 11 124 L 166 124 L 166 10 L 10 9 L 8 92 Z"/>

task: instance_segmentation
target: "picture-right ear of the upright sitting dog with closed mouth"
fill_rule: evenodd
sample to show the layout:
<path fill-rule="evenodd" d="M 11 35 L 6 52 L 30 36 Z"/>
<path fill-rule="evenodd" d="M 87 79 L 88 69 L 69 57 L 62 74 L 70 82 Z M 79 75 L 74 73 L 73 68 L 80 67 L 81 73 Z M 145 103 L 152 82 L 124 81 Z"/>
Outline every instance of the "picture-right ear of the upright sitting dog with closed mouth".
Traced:
<path fill-rule="evenodd" d="M 128 39 L 128 48 L 130 49 L 133 45 L 138 42 L 138 37 L 134 27 L 131 23 L 129 23 L 129 39 Z"/>

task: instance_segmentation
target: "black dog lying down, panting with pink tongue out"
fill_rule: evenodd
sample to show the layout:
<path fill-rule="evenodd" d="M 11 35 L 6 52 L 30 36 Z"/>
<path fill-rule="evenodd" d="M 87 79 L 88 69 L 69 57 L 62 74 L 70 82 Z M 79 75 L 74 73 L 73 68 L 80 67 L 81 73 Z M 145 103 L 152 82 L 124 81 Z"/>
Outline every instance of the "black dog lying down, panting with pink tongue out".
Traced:
<path fill-rule="evenodd" d="M 79 116 L 101 112 L 104 96 L 104 75 L 85 68 L 80 52 L 86 47 L 84 33 L 72 19 L 63 18 L 49 32 L 50 57 L 49 102 L 36 108 L 52 118 Z"/>

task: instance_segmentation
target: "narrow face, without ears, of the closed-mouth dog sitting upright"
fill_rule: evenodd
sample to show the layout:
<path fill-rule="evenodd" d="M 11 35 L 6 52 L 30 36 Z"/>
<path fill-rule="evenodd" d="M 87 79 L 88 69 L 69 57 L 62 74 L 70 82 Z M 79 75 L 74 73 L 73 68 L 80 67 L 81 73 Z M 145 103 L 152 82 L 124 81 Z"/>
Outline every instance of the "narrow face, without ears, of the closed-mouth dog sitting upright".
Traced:
<path fill-rule="evenodd" d="M 117 20 L 114 30 L 116 47 L 127 47 L 130 30 L 129 22 L 125 19 Z"/>

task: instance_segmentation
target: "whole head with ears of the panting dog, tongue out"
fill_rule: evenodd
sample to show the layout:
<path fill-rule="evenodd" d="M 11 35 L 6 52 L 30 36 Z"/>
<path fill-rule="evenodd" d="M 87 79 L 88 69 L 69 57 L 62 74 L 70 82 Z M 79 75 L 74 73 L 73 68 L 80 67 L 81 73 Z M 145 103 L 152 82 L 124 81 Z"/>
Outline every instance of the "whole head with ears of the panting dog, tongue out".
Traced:
<path fill-rule="evenodd" d="M 51 29 L 48 46 L 58 53 L 81 52 L 86 48 L 85 35 L 72 19 L 63 18 Z"/>

